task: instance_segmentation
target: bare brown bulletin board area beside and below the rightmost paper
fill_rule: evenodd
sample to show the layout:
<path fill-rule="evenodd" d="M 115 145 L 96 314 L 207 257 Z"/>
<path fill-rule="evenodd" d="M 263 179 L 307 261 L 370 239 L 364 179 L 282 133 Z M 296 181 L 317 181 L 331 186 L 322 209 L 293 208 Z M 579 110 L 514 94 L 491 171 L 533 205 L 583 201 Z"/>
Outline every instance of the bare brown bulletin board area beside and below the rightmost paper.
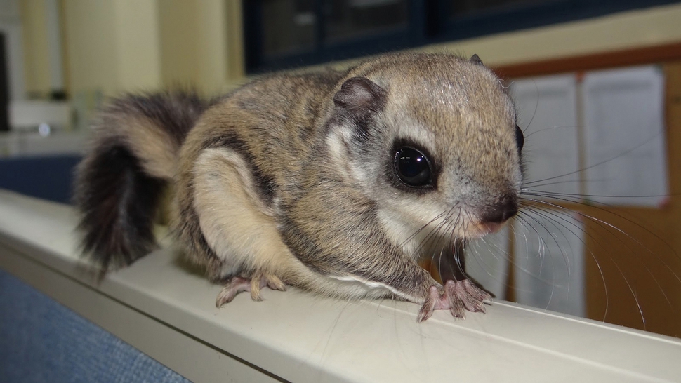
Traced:
<path fill-rule="evenodd" d="M 660 209 L 588 207 L 578 210 L 621 230 L 594 221 L 588 224 L 588 316 L 678 337 L 681 336 L 681 62 L 668 62 L 663 69 L 667 79 L 668 203 Z"/>

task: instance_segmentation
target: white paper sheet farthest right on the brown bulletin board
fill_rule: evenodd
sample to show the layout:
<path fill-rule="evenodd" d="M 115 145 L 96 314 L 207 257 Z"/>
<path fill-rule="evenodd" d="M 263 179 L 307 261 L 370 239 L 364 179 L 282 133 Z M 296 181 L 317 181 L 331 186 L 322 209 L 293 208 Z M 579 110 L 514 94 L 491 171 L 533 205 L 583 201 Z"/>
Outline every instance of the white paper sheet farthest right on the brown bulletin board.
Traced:
<path fill-rule="evenodd" d="M 660 206 L 668 195 L 660 69 L 590 72 L 583 94 L 588 199 Z"/>

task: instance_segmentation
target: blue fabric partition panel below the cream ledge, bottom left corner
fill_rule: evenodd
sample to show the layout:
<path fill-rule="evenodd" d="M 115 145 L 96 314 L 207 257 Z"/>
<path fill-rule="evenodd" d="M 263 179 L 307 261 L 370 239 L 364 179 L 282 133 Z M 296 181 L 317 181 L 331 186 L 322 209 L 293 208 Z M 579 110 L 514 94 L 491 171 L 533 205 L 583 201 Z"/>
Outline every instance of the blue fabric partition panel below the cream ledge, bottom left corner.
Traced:
<path fill-rule="evenodd" d="M 0 269 L 0 382 L 188 382 Z"/>

